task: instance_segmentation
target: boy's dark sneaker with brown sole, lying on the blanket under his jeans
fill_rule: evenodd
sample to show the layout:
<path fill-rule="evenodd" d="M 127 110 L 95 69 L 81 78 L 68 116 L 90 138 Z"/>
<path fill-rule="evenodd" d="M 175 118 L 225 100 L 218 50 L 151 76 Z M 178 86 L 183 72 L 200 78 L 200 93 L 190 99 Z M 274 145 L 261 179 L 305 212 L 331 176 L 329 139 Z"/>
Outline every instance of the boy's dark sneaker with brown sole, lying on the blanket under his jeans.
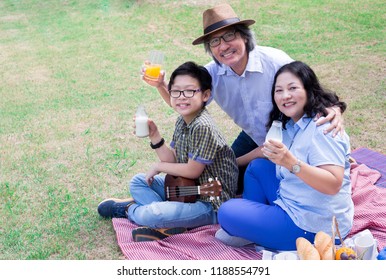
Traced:
<path fill-rule="evenodd" d="M 184 227 L 175 228 L 149 228 L 149 227 L 138 227 L 133 229 L 132 235 L 135 242 L 141 241 L 154 241 L 161 240 L 174 234 L 184 233 L 187 229 Z"/>

